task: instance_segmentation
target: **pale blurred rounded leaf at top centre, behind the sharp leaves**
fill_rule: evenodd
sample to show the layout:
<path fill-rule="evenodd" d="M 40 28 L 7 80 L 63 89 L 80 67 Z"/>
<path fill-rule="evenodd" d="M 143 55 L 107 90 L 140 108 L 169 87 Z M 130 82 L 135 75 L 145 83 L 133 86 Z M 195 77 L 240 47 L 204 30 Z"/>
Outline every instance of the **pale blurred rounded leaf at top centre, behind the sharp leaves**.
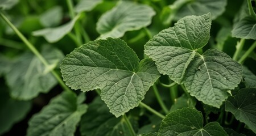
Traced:
<path fill-rule="evenodd" d="M 151 24 L 155 11 L 147 5 L 129 1 L 118 2 L 112 10 L 105 12 L 97 22 L 100 39 L 122 37 L 126 31 L 134 31 Z"/>

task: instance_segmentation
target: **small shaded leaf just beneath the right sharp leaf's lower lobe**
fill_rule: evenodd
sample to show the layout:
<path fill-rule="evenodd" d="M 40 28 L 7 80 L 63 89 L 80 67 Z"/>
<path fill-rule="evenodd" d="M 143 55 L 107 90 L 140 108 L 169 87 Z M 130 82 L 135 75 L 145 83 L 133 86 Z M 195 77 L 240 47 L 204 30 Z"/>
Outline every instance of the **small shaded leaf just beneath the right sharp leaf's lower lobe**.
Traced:
<path fill-rule="evenodd" d="M 188 97 L 183 94 L 182 96 L 175 99 L 175 103 L 172 105 L 170 111 L 175 111 L 177 109 L 182 109 L 185 107 L 194 108 L 196 106 L 196 100 L 193 97 Z"/>

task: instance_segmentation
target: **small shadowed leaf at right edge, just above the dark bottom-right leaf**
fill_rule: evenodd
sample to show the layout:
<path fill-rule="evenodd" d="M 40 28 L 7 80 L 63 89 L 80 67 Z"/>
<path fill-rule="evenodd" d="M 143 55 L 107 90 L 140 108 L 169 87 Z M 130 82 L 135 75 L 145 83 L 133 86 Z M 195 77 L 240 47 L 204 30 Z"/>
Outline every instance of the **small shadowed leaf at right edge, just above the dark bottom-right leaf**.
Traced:
<path fill-rule="evenodd" d="M 256 76 L 246 66 L 243 66 L 243 76 L 245 76 L 246 87 L 256 88 Z"/>

